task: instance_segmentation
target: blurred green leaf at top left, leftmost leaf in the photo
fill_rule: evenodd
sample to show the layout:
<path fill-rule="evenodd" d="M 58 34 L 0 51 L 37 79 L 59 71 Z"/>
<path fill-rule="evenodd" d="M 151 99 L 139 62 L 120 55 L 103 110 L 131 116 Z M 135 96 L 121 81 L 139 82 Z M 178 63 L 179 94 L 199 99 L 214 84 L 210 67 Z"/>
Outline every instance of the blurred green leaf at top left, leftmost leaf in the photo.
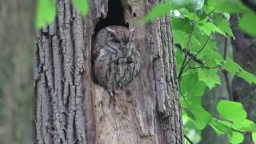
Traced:
<path fill-rule="evenodd" d="M 54 0 L 38 0 L 37 14 L 36 14 L 36 27 L 49 25 L 54 21 L 56 16 L 56 6 Z"/>

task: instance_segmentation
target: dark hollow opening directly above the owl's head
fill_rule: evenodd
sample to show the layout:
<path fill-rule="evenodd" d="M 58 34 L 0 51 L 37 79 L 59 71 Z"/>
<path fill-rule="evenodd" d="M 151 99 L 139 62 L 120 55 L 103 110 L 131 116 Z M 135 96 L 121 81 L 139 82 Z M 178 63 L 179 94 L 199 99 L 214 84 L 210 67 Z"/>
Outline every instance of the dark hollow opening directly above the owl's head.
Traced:
<path fill-rule="evenodd" d="M 108 3 L 108 13 L 106 18 L 100 18 L 95 27 L 94 34 L 106 26 L 125 26 L 129 28 L 129 24 L 125 22 L 124 10 L 122 8 L 121 0 L 110 0 Z"/>

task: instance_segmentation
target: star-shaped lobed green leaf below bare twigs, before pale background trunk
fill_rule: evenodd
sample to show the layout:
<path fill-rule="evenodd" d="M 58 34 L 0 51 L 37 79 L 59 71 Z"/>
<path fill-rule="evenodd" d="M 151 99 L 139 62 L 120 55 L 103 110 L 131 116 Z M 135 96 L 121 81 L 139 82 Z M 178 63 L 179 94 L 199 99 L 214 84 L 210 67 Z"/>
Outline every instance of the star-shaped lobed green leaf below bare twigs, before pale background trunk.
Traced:
<path fill-rule="evenodd" d="M 206 86 L 212 89 L 215 85 L 221 85 L 221 79 L 218 76 L 218 70 L 198 70 L 198 79 L 201 82 L 205 82 Z"/>

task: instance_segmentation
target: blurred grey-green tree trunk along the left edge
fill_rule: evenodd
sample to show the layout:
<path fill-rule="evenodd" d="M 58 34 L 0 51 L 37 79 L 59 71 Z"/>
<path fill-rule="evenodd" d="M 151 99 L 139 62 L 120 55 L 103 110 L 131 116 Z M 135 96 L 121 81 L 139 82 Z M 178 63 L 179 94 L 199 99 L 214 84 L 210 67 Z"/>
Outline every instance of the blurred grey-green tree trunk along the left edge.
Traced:
<path fill-rule="evenodd" d="M 0 0 L 0 143 L 32 143 L 34 1 Z"/>

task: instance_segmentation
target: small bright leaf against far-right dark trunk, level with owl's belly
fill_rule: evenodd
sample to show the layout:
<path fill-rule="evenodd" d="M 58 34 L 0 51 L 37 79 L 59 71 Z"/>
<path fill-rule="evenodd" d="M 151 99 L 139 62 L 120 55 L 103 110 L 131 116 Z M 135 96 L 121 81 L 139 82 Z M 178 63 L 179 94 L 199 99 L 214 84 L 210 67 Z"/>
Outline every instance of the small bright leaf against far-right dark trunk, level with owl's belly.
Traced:
<path fill-rule="evenodd" d="M 234 74 L 238 73 L 239 70 L 242 70 L 242 67 L 229 58 L 225 63 L 222 64 L 222 69 L 230 72 L 230 75 L 233 77 Z"/>

